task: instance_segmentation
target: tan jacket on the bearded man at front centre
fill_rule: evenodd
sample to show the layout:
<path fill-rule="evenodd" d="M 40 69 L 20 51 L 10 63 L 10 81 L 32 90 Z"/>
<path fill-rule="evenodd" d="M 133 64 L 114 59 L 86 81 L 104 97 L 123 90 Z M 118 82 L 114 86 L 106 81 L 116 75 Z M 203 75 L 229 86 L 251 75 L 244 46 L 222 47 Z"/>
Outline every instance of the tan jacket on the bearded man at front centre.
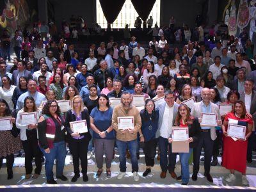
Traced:
<path fill-rule="evenodd" d="M 134 133 L 125 132 L 122 134 L 122 132 L 118 129 L 118 116 L 133 116 L 134 117 Z M 141 128 L 141 118 L 140 118 L 140 112 L 135 107 L 132 106 L 128 113 L 125 112 L 125 109 L 123 107 L 123 104 L 120 104 L 115 107 L 112 115 L 112 127 L 116 131 L 116 139 L 120 141 L 132 141 L 137 139 L 137 132 Z"/>

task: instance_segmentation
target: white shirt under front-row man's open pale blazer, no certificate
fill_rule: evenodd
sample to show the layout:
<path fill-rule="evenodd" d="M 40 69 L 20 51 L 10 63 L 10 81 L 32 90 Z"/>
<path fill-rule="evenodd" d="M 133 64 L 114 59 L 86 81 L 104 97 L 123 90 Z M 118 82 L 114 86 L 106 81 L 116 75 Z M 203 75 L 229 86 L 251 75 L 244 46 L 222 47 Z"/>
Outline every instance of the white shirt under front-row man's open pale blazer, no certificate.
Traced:
<path fill-rule="evenodd" d="M 172 122 L 173 122 L 173 110 L 174 110 L 173 106 L 170 108 L 168 104 L 166 104 L 164 108 L 163 122 L 160 127 L 160 136 L 162 138 L 168 139 L 169 136 L 171 135 Z"/>

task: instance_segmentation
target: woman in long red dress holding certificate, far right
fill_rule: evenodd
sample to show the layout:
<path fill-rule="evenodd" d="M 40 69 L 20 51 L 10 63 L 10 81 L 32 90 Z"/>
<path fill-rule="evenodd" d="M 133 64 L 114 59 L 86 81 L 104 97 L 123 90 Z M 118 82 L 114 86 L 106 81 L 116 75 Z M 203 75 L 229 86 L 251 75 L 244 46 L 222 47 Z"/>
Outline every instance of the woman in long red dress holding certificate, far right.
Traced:
<path fill-rule="evenodd" d="M 246 126 L 244 138 L 232 138 L 228 136 L 228 123 L 233 124 L 237 120 L 237 125 Z M 230 174 L 225 179 L 227 182 L 236 180 L 234 175 L 235 170 L 242 173 L 242 183 L 248 186 L 249 182 L 246 179 L 246 154 L 248 147 L 248 138 L 252 134 L 253 120 L 246 117 L 246 108 L 244 102 L 239 100 L 234 103 L 232 112 L 225 116 L 222 131 L 223 131 L 223 155 L 222 166 L 230 170 Z M 241 131 L 243 133 L 243 131 Z"/>

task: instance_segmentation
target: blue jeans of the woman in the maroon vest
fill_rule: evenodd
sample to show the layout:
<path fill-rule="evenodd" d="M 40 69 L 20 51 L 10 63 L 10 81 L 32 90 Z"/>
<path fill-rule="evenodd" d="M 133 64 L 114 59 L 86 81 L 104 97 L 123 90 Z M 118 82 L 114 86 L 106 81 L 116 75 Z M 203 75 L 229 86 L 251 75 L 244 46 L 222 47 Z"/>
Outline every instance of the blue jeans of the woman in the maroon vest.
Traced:
<path fill-rule="evenodd" d="M 66 143 L 65 141 L 60 141 L 58 143 L 53 143 L 53 148 L 50 149 L 50 153 L 46 154 L 44 148 L 41 148 L 45 156 L 45 175 L 47 180 L 53 180 L 53 164 L 54 159 L 56 159 L 56 176 L 60 177 L 63 174 L 65 158 L 67 156 Z M 58 161 L 58 163 L 57 163 Z"/>

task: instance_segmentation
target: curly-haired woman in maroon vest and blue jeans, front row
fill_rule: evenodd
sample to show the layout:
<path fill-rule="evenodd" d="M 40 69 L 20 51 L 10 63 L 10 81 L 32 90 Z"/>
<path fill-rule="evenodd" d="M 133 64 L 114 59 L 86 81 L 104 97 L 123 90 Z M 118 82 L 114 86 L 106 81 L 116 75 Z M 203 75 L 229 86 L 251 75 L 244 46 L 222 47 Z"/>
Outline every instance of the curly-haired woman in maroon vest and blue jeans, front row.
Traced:
<path fill-rule="evenodd" d="M 57 184 L 53 179 L 53 164 L 56 159 L 56 178 L 68 180 L 63 175 L 65 158 L 67 156 L 65 143 L 65 118 L 60 112 L 56 100 L 48 100 L 44 105 L 42 116 L 38 121 L 38 140 L 45 156 L 45 175 L 47 184 Z"/>

